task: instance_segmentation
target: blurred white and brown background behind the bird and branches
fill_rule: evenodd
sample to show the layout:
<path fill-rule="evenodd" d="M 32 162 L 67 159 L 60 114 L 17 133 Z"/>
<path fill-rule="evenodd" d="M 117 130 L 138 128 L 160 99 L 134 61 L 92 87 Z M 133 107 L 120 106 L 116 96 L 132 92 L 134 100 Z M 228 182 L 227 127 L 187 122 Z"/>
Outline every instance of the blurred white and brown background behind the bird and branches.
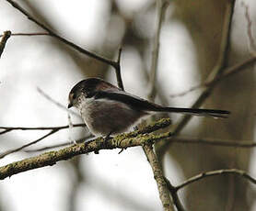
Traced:
<path fill-rule="evenodd" d="M 81 47 L 116 60 L 122 47 L 125 90 L 146 97 L 156 31 L 153 0 L 44 0 L 17 1 L 33 17 Z M 171 97 L 204 82 L 215 66 L 228 1 L 170 1 L 164 18 L 157 67 L 157 102 L 191 106 L 202 90 Z M 255 34 L 256 3 L 250 8 Z M 44 32 L 0 1 L 0 32 Z M 250 56 L 247 21 L 236 1 L 228 65 Z M 12 37 L 0 60 L 0 125 L 50 127 L 66 125 L 67 114 L 43 97 L 67 104 L 75 83 L 98 76 L 116 83 L 113 69 L 78 53 L 48 36 Z M 253 67 L 220 83 L 204 107 L 227 109 L 227 120 L 193 117 L 181 135 L 225 140 L 255 139 L 255 72 Z M 180 116 L 171 116 L 175 124 Z M 74 123 L 81 119 L 72 117 Z M 58 132 L 35 149 L 83 137 L 86 128 Z M 13 131 L 1 136 L 5 151 L 40 138 L 45 131 Z M 160 210 L 157 184 L 142 149 L 103 150 L 99 155 L 77 156 L 52 167 L 23 172 L 0 182 L 0 210 Z M 0 160 L 1 166 L 37 153 L 18 152 Z M 217 169 L 238 168 L 256 177 L 254 149 L 173 143 L 163 160 L 166 176 L 179 184 L 191 176 Z M 256 210 L 256 189 L 234 175 L 215 176 L 187 186 L 180 199 L 187 210 Z"/>

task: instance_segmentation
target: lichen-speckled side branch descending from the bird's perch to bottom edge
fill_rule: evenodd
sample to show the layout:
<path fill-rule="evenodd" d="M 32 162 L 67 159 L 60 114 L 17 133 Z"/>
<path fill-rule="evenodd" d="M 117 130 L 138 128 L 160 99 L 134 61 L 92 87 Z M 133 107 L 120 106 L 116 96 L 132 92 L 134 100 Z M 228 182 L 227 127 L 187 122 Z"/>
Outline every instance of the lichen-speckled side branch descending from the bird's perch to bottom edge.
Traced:
<path fill-rule="evenodd" d="M 164 207 L 165 211 L 173 210 L 174 207 L 170 201 L 169 197 L 169 190 L 167 183 L 164 179 L 164 174 L 162 172 L 161 166 L 159 165 L 159 162 L 157 161 L 157 155 L 155 154 L 152 145 L 144 145 L 143 150 L 145 151 L 145 155 L 147 158 L 147 161 L 149 162 L 153 174 L 154 179 L 157 182 L 157 188 L 159 192 L 159 197 L 162 202 L 162 205 Z"/>

